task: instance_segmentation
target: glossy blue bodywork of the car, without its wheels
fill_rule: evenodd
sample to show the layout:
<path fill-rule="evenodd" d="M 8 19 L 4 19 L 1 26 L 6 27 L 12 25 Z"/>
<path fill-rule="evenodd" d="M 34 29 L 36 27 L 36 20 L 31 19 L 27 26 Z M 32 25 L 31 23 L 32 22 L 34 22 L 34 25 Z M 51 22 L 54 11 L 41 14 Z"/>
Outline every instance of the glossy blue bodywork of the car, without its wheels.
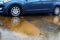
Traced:
<path fill-rule="evenodd" d="M 2 0 L 0 1 L 0 13 L 9 14 L 13 5 L 18 5 L 24 13 L 52 13 L 59 8 L 59 0 Z M 16 10 L 15 10 L 16 11 Z M 23 14 L 24 14 L 23 13 Z"/>

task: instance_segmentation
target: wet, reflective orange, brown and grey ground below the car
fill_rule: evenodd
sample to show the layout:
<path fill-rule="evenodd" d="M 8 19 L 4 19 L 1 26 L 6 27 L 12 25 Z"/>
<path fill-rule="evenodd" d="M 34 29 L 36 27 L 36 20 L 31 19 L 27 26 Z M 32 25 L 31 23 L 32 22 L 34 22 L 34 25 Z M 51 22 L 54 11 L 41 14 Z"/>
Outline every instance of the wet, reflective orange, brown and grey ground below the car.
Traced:
<path fill-rule="evenodd" d="M 60 40 L 60 16 L 0 16 L 0 40 Z"/>

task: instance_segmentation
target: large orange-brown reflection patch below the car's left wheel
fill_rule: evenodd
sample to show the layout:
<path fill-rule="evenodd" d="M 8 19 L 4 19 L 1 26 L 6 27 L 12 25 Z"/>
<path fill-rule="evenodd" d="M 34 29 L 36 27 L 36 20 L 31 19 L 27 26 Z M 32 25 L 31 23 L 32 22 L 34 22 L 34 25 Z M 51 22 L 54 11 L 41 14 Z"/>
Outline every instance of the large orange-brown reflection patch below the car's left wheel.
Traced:
<path fill-rule="evenodd" d="M 26 35 L 43 34 L 34 24 L 28 22 L 24 17 L 12 17 L 6 18 L 5 20 L 7 20 L 7 25 L 11 31 L 24 33 Z"/>

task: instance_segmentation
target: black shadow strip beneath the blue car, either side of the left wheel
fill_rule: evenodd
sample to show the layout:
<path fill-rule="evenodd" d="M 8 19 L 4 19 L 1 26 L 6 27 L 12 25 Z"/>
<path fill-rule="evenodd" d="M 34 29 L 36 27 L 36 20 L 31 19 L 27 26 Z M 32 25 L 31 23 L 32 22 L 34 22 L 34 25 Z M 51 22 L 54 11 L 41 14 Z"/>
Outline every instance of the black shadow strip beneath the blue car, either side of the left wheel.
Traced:
<path fill-rule="evenodd" d="M 52 13 L 26 13 L 26 14 L 23 14 L 23 15 L 20 15 L 20 16 L 50 16 L 50 14 L 52 14 Z M 0 14 L 0 16 L 12 17 L 9 14 L 3 14 L 3 13 Z"/>

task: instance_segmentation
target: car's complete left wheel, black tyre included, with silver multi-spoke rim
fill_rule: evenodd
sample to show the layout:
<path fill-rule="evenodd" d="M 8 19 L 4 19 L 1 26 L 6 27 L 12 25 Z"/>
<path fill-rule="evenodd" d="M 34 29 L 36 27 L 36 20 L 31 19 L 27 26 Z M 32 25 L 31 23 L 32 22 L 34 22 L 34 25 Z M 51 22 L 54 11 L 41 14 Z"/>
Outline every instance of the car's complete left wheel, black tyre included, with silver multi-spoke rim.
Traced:
<path fill-rule="evenodd" d="M 21 9 L 19 6 L 15 5 L 10 8 L 10 14 L 14 17 L 19 16 L 21 14 Z"/>

